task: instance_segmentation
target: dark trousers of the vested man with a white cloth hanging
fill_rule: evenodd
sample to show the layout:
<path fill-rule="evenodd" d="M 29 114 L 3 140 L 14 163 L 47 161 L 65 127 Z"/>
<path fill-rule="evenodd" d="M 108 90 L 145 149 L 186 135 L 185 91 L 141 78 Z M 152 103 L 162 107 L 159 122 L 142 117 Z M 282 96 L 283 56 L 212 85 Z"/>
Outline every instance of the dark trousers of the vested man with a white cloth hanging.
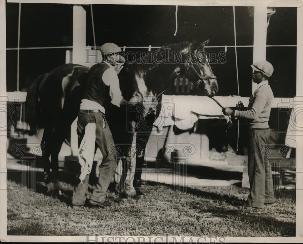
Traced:
<path fill-rule="evenodd" d="M 114 175 L 115 168 L 117 167 L 117 155 L 115 154 L 112 132 L 108 127 L 108 123 L 104 118 L 104 114 L 101 112 L 79 112 L 77 128 L 78 145 L 80 145 L 85 134 L 85 126 L 91 122 L 96 123 L 95 153 L 98 147 L 102 152 L 103 160 L 99 166 L 99 179 L 94 191 L 92 192 L 92 196 L 90 196 L 90 199 L 97 202 L 103 202 L 106 200 L 106 191 Z M 86 175 L 83 182 L 80 182 L 78 179 L 78 182 L 74 187 L 74 194 L 72 199 L 72 203 L 74 205 L 83 205 L 85 203 L 88 188 L 88 179 L 89 174 Z"/>

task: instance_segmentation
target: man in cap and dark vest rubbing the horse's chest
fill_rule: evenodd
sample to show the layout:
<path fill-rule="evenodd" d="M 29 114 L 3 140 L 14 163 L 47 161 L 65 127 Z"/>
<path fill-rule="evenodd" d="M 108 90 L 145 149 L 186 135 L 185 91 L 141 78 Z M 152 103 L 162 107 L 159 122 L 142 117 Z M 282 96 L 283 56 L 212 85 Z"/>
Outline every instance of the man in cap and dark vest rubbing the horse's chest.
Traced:
<path fill-rule="evenodd" d="M 88 71 L 83 99 L 78 113 L 78 145 L 81 174 L 74 187 L 72 204 L 84 205 L 88 188 L 89 173 L 97 147 L 103 155 L 99 165 L 99 178 L 91 197 L 90 205 L 106 207 L 110 205 L 106 191 L 117 166 L 117 155 L 110 151 L 114 145 L 112 132 L 105 119 L 105 112 L 111 103 L 117 107 L 125 105 L 119 88 L 118 73 L 123 68 L 124 58 L 114 43 L 105 43 L 101 47 L 103 62 L 93 65 Z"/>

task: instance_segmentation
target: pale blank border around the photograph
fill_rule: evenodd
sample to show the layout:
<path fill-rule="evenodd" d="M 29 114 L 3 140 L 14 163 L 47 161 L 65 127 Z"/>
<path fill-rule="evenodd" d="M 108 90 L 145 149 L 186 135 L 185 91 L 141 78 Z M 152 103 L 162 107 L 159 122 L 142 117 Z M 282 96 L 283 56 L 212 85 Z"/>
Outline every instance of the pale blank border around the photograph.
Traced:
<path fill-rule="evenodd" d="M 303 52 L 302 52 L 302 24 L 303 24 L 303 3 L 302 1 L 246 1 L 246 0 L 216 0 L 216 1 L 197 1 L 191 2 L 181 0 L 144 0 L 141 2 L 132 0 L 115 0 L 115 1 L 97 1 L 97 0 L 9 0 L 8 3 L 72 3 L 72 4 L 133 4 L 133 5 L 188 5 L 188 6 L 272 6 L 272 7 L 298 7 L 297 8 L 297 96 L 303 96 Z M 0 1 L 0 98 L 6 97 L 6 26 L 5 26 L 5 1 Z M 6 116 L 0 118 L 0 125 L 6 125 Z M 1 241 L 8 242 L 87 242 L 87 236 L 7 236 L 7 199 L 6 199 L 6 136 L 0 136 L 0 237 Z M 302 147 L 302 137 L 297 136 L 297 147 Z M 296 150 L 296 169 L 303 169 L 303 150 Z M 303 177 L 296 177 L 296 189 L 303 189 Z M 300 204 L 301 202 L 301 204 Z M 296 237 L 226 237 L 225 242 L 303 242 L 303 191 L 296 191 Z M 108 240 L 107 236 L 104 241 Z M 125 236 L 125 239 L 127 236 Z M 178 240 L 178 237 L 176 237 Z M 91 239 L 91 238 L 90 238 Z M 186 237 L 184 241 L 196 241 L 198 237 Z M 151 239 L 150 241 L 153 241 Z M 165 239 L 166 240 L 166 239 Z M 102 241 L 99 237 L 98 241 Z M 111 241 L 111 240 L 108 240 Z M 129 239 L 132 241 L 132 239 Z M 157 240 L 156 240 L 157 241 Z M 168 241 L 173 241 L 172 237 Z"/>

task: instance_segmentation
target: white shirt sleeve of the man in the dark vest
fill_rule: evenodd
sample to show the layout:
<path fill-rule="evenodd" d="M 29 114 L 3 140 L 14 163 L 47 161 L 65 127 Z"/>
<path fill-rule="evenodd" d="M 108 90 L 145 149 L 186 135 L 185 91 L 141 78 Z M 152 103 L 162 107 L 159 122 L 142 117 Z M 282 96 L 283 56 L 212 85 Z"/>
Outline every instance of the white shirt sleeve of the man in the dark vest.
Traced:
<path fill-rule="evenodd" d="M 120 107 L 120 101 L 123 98 L 119 86 L 119 79 L 115 69 L 107 69 L 102 75 L 105 85 L 109 85 L 109 95 L 112 98 L 112 104 Z"/>

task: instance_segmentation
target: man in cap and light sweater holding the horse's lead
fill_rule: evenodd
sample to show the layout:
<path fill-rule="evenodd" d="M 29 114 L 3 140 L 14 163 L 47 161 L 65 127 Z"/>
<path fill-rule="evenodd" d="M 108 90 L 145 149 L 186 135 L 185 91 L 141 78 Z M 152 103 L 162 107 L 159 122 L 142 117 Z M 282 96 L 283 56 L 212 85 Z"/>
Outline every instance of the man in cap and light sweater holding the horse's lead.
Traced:
<path fill-rule="evenodd" d="M 271 165 L 262 155 L 262 145 L 268 144 L 270 129 L 268 120 L 273 101 L 273 93 L 268 84 L 268 78 L 274 68 L 268 61 L 260 61 L 251 65 L 254 72 L 252 81 L 257 83 L 257 89 L 249 99 L 247 110 L 239 111 L 224 108 L 225 115 L 234 115 L 235 118 L 245 118 L 249 122 L 248 144 L 248 176 L 250 194 L 247 199 L 248 206 L 262 208 L 264 204 L 274 203 Z"/>

